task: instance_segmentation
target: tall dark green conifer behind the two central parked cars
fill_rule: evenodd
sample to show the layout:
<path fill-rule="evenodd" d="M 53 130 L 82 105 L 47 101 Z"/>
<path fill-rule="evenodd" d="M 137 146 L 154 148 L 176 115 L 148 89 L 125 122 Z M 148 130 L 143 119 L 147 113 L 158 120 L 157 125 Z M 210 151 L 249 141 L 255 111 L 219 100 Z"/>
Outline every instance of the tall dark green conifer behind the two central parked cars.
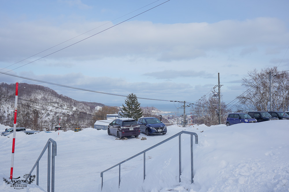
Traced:
<path fill-rule="evenodd" d="M 142 109 L 135 94 L 131 93 L 127 96 L 125 105 L 126 107 L 123 105 L 123 110 L 121 110 L 123 117 L 133 118 L 135 120 L 142 117 Z"/>

